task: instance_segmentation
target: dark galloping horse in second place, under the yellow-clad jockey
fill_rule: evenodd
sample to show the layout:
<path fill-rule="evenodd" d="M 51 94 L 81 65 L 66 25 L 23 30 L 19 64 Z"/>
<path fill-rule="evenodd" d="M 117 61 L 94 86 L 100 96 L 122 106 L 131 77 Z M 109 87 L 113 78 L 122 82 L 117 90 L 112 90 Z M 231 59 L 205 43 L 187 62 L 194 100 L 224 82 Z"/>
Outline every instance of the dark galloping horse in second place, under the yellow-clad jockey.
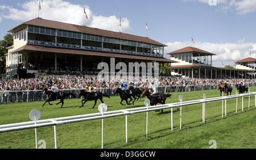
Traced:
<path fill-rule="evenodd" d="M 97 95 L 94 95 L 94 94 L 97 94 Z M 79 98 L 81 96 L 84 96 L 84 99 L 82 99 L 82 106 L 81 107 L 84 107 L 84 104 L 86 102 L 94 100 L 93 108 L 96 106 L 98 99 L 101 100 L 101 103 L 104 103 L 103 100 L 102 100 L 104 96 L 110 98 L 109 95 L 102 94 L 102 92 L 100 92 L 100 91 L 97 91 L 97 92 L 93 93 L 93 92 L 86 92 L 85 90 L 81 90 L 79 92 Z"/>

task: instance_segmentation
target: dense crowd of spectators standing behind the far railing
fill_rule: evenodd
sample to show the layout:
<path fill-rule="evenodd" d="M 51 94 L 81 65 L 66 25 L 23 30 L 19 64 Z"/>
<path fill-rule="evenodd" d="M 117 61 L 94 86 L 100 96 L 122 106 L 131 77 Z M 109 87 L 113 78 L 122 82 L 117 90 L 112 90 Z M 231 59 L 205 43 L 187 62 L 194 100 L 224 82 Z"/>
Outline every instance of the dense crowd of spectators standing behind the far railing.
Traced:
<path fill-rule="evenodd" d="M 22 90 L 42 90 L 45 87 L 56 86 L 59 89 L 85 89 L 86 87 L 114 88 L 119 87 L 119 83 L 139 83 L 139 87 L 155 86 L 187 86 L 187 85 L 216 85 L 220 82 L 226 83 L 256 83 L 255 79 L 197 79 L 181 77 L 160 77 L 150 79 L 135 78 L 110 78 L 98 79 L 97 77 L 82 76 L 57 76 L 38 77 L 29 79 L 0 80 L 0 91 L 22 91 Z"/>

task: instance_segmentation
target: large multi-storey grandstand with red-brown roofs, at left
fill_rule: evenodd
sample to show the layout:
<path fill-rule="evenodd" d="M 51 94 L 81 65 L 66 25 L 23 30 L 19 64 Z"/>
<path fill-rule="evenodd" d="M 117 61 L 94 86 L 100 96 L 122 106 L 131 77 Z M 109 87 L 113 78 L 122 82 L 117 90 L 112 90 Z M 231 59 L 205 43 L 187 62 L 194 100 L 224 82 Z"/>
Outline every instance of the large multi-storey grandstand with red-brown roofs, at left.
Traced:
<path fill-rule="evenodd" d="M 130 35 L 36 18 L 11 29 L 14 45 L 6 54 L 6 77 L 22 73 L 89 73 L 97 74 L 100 62 L 159 62 L 166 45 Z"/>

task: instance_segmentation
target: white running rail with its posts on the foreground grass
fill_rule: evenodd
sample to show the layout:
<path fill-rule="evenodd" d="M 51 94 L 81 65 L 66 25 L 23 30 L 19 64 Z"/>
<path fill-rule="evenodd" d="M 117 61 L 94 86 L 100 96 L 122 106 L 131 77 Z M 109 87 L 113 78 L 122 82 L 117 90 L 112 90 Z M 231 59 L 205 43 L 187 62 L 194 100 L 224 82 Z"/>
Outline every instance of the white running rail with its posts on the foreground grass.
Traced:
<path fill-rule="evenodd" d="M 42 127 L 54 127 L 54 138 L 55 138 L 55 148 L 57 148 L 57 125 L 64 125 L 64 124 L 70 124 L 70 123 L 79 123 L 82 121 L 92 121 L 92 120 L 102 120 L 102 148 L 103 148 L 103 120 L 110 118 L 110 117 L 118 117 L 118 116 L 125 116 L 126 120 L 126 128 L 125 128 L 125 133 L 126 133 L 126 143 L 128 141 L 128 129 L 127 129 L 127 116 L 129 115 L 134 115 L 138 113 L 148 113 L 152 111 L 159 111 L 159 110 L 171 110 L 171 124 L 170 124 L 170 129 L 173 131 L 173 108 L 180 108 L 180 129 L 182 127 L 181 119 L 182 119 L 182 107 L 184 106 L 191 106 L 194 104 L 202 104 L 203 112 L 202 112 L 202 122 L 205 123 L 205 106 L 207 103 L 210 102 L 216 102 L 216 101 L 222 101 L 222 117 L 224 115 L 227 115 L 227 105 L 226 101 L 228 99 L 236 99 L 236 112 L 238 112 L 238 98 L 242 98 L 242 111 L 245 110 L 245 105 L 243 102 L 243 98 L 245 96 L 249 97 L 249 104 L 248 108 L 250 108 L 250 98 L 251 96 L 255 97 L 255 102 L 254 106 L 256 107 L 256 92 L 249 92 L 246 94 L 236 94 L 236 95 L 230 95 L 230 96 L 221 96 L 221 97 L 216 97 L 216 98 L 206 98 L 206 95 L 203 95 L 203 99 L 197 99 L 197 100 L 190 100 L 187 102 L 183 102 L 183 98 L 179 98 L 180 102 L 177 103 L 170 103 L 170 104 L 163 104 L 159 106 L 146 106 L 146 107 L 139 107 L 139 108 L 133 108 L 129 110 L 118 110 L 118 111 L 110 111 L 110 112 L 102 112 L 102 113 L 93 113 L 93 114 L 88 114 L 88 115 L 78 115 L 78 116 L 69 116 L 69 117 L 60 117 L 60 118 L 55 118 L 55 119 L 46 119 L 46 120 L 35 120 L 35 121 L 28 121 L 28 122 L 23 122 L 23 123 L 15 123 L 15 124 L 6 124 L 6 125 L 0 125 L 0 133 L 5 133 L 5 132 L 13 132 L 17 130 L 24 130 L 24 129 L 35 129 L 36 128 L 42 128 Z M 181 97 L 181 96 L 180 96 Z M 146 101 L 145 101 L 146 102 Z M 148 104 L 148 103 L 146 103 Z M 35 117 L 36 119 L 36 117 Z M 148 119 L 148 115 L 147 115 Z M 146 137 L 147 137 L 147 129 L 148 129 L 148 120 L 146 123 Z M 36 135 L 36 134 L 35 134 Z M 20 137 L 22 138 L 22 137 Z M 37 137 L 36 139 L 36 144 L 37 142 Z"/>

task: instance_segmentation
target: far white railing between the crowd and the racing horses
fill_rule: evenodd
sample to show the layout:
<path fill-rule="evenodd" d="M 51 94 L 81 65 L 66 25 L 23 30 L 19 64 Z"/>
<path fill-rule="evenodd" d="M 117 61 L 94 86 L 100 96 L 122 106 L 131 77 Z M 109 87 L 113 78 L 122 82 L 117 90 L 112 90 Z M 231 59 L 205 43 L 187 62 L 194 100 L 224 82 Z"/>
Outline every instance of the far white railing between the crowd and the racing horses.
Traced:
<path fill-rule="evenodd" d="M 256 83 L 247 83 L 249 87 L 256 86 Z M 235 88 L 234 84 L 232 84 Z M 218 85 L 188 85 L 188 86 L 160 86 L 158 87 L 159 92 L 188 92 L 188 91 L 204 91 L 204 90 L 217 90 Z M 71 92 L 76 96 L 80 90 L 60 90 L 65 92 Z M 114 89 L 100 89 L 101 92 L 109 96 L 114 95 Z M 69 96 L 68 99 L 71 99 Z M 1 103 L 19 103 L 19 102 L 36 102 L 47 100 L 47 95 L 42 95 L 42 90 L 32 91 L 0 91 L 0 104 Z"/>

